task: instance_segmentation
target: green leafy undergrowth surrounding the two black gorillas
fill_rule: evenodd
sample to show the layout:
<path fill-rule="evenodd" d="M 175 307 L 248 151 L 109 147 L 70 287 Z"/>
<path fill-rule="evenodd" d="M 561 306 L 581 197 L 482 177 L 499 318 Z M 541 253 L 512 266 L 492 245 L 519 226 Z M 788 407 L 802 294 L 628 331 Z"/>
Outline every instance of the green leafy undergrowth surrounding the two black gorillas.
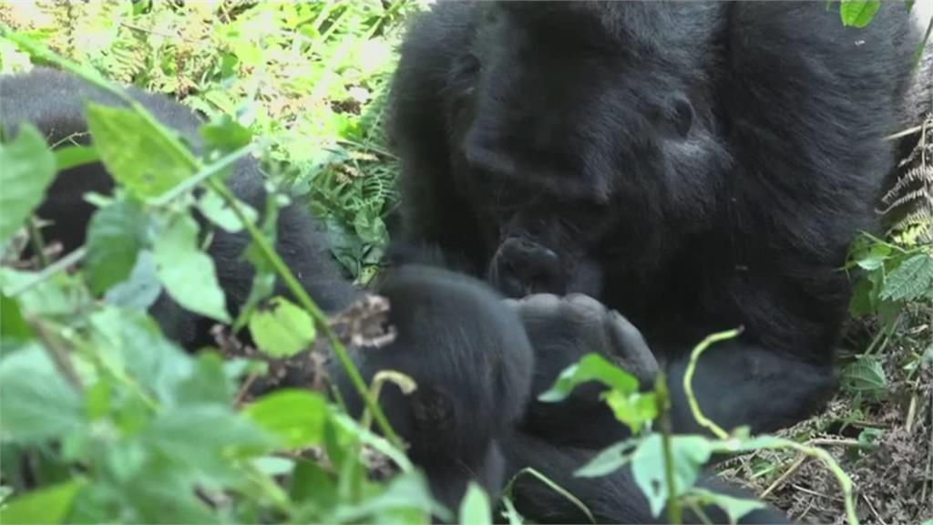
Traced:
<path fill-rule="evenodd" d="M 846 4 L 843 22 L 870 23 L 872 2 Z M 420 8 L 377 1 L 0 5 L 3 73 L 56 64 L 116 93 L 121 83 L 168 93 L 208 122 L 201 156 L 139 106 L 89 106 L 92 147 L 52 152 L 29 128 L 13 140 L 5 137 L 0 184 L 17 198 L 0 195 L 0 522 L 493 518 L 491 500 L 499 495 L 476 487 L 459 509 L 434 503 L 378 409 L 370 407 L 357 421 L 320 391 L 279 390 L 248 399 L 241 385 L 268 373 L 270 359 L 324 348 L 342 361 L 346 350 L 313 297 L 295 287 L 295 303 L 270 297 L 263 283 L 276 274 L 288 280 L 270 248 L 273 222 L 253 222 L 255 211 L 224 185 L 227 168 L 258 155 L 269 174 L 272 208 L 285 203 L 285 193 L 306 200 L 326 224 L 343 268 L 367 283 L 383 259 L 386 220 L 396 202 L 397 162 L 381 131 L 383 101 L 403 22 Z M 933 139 L 933 126 L 925 126 L 916 133 Z M 149 146 L 140 147 L 144 142 Z M 922 184 L 933 163 L 929 143 L 909 161 L 916 163 L 912 180 Z M 95 159 L 107 165 L 119 191 L 91 196 L 99 210 L 88 244 L 61 259 L 36 234 L 41 229 L 33 211 L 57 171 Z M 144 174 L 155 163 L 160 169 L 152 171 L 168 175 L 152 181 Z M 195 196 L 196 187 L 205 190 L 202 196 Z M 204 232 L 192 219 L 196 210 L 210 228 L 250 235 L 247 258 L 258 277 L 238 319 L 230 319 L 213 264 L 199 247 Z M 867 476 L 859 474 L 866 464 L 880 468 L 872 454 L 906 440 L 919 450 L 911 461 L 933 461 L 933 451 L 924 448 L 933 447 L 933 438 L 927 445 L 913 437 L 933 435 L 931 228 L 928 214 L 913 213 L 884 238 L 856 240 L 851 263 L 840 271 L 852 272 L 851 313 L 864 320 L 853 323 L 847 340 L 852 355 L 843 363 L 842 393 L 827 414 L 780 436 L 720 429 L 703 418 L 700 406 L 693 406 L 694 415 L 712 437 L 671 435 L 663 432 L 668 400 L 662 377 L 644 392 L 632 376 L 595 355 L 564 371 L 542 399 L 557 402 L 578 384 L 600 381 L 606 403 L 635 436 L 580 465 L 578 475 L 631 467 L 656 515 L 666 512 L 679 522 L 683 507 L 712 503 L 738 518 L 758 503 L 700 490 L 694 482 L 712 455 L 752 452 L 727 463 L 725 474 L 751 480 L 759 494 L 800 515 L 806 511 L 795 506 L 794 495 L 799 499 L 807 489 L 801 485 L 813 483 L 817 494 L 808 501 L 829 507 L 829 518 L 874 521 L 884 512 L 875 508 L 882 496 L 874 497 Z M 41 249 L 23 262 L 19 255 L 30 243 Z M 80 270 L 71 271 L 77 262 Z M 170 265 L 175 271 L 166 271 Z M 162 290 L 219 323 L 248 326 L 258 357 L 184 353 L 146 315 Z M 266 301 L 278 307 L 257 307 Z M 733 335 L 711 336 L 694 359 Z M 387 380 L 411 386 L 405 377 Z M 357 386 L 371 401 L 372 389 Z M 850 467 L 855 476 L 846 474 Z M 926 477 L 923 465 L 915 468 L 921 475 L 904 481 L 915 504 L 905 500 L 885 516 L 930 518 L 922 513 L 926 508 L 929 514 L 925 499 L 933 497 L 931 467 Z M 788 481 L 808 472 L 794 485 Z M 536 472 L 519 475 L 537 476 L 575 501 Z M 521 522 L 508 487 L 504 496 L 504 518 Z"/>

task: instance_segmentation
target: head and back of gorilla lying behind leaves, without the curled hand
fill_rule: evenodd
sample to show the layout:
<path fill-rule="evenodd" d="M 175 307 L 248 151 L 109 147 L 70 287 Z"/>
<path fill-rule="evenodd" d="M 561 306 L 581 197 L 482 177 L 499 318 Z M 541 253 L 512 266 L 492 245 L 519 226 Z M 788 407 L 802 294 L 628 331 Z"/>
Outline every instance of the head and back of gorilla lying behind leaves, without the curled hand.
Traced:
<path fill-rule="evenodd" d="M 49 144 L 90 142 L 86 102 L 121 105 L 115 97 L 49 69 L 2 77 L 0 92 L 4 137 L 15 136 L 21 123 L 28 121 Z M 202 122 L 188 108 L 161 96 L 129 92 L 198 148 Z M 263 208 L 262 174 L 254 159 L 237 163 L 228 184 L 246 204 Z M 64 171 L 37 211 L 51 223 L 44 234 L 69 251 L 81 246 L 94 211 L 83 194 L 112 190 L 113 181 L 100 163 Z M 208 227 L 199 220 L 202 228 Z M 251 265 L 242 258 L 247 244 L 244 234 L 217 229 L 209 248 L 234 313 L 244 304 L 253 278 Z M 323 234 L 299 206 L 281 210 L 276 250 L 328 313 L 337 313 L 362 296 L 341 277 Z M 534 370 L 532 349 L 515 309 L 477 280 L 430 268 L 400 268 L 384 279 L 377 292 L 390 303 L 388 321 L 397 338 L 385 348 L 353 348 L 352 354 L 367 382 L 387 368 L 417 382 L 411 395 L 386 387 L 381 397 L 393 427 L 410 444 L 411 459 L 424 468 L 432 490 L 448 507 L 457 507 L 470 479 L 497 494 L 505 473 L 497 442 L 522 414 Z M 276 293 L 286 294 L 281 286 Z M 211 344 L 213 322 L 182 309 L 164 292 L 151 314 L 185 348 Z M 362 405 L 339 364 L 331 367 L 330 375 L 358 415 Z M 299 380 L 286 378 L 289 382 Z"/>

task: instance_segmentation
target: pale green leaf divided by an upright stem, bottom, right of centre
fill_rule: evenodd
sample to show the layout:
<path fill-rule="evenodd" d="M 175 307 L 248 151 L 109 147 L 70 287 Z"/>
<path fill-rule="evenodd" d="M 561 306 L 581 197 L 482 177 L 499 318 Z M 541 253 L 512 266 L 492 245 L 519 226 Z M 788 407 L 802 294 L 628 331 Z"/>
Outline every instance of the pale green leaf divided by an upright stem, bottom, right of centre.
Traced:
<path fill-rule="evenodd" d="M 670 491 L 665 476 L 664 453 L 661 434 L 653 433 L 635 448 L 632 454 L 632 474 L 635 483 L 648 498 L 651 515 L 661 515 Z M 697 480 L 703 463 L 709 460 L 711 447 L 705 437 L 699 435 L 671 436 L 671 457 L 674 463 L 676 495 L 683 494 Z"/>

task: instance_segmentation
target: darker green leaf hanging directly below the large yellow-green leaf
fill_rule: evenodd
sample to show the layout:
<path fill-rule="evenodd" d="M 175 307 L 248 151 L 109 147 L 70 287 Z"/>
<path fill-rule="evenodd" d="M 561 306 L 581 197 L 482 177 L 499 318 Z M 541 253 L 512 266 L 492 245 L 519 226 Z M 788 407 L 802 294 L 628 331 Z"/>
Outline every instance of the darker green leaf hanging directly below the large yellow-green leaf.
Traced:
<path fill-rule="evenodd" d="M 95 295 L 130 277 L 137 253 L 146 247 L 148 225 L 146 213 L 131 201 L 117 201 L 94 212 L 84 269 Z"/>

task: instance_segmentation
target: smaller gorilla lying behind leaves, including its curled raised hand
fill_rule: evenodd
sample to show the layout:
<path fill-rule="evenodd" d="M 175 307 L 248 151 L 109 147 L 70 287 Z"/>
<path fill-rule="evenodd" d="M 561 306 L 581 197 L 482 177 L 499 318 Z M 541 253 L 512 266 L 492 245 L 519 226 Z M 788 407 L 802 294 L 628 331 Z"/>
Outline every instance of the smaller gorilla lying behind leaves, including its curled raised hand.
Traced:
<path fill-rule="evenodd" d="M 135 89 L 129 92 L 157 119 L 199 148 L 201 121 L 187 107 L 159 95 Z M 112 95 L 50 69 L 0 77 L 0 131 L 9 139 L 22 122 L 29 121 L 46 135 L 49 144 L 87 144 L 90 137 L 84 104 L 88 100 L 121 105 Z M 262 177 L 254 159 L 243 159 L 234 166 L 227 183 L 242 201 L 261 211 L 266 202 Z M 113 182 L 100 163 L 64 171 L 37 210 L 37 215 L 51 223 L 45 230 L 47 237 L 62 242 L 66 251 L 81 246 L 94 210 L 84 201 L 84 193 L 112 190 Z M 199 220 L 202 227 L 209 227 Z M 252 282 L 252 268 L 241 259 L 247 242 L 244 234 L 216 229 L 209 247 L 234 313 L 244 304 Z M 281 210 L 276 249 L 327 312 L 339 312 L 361 295 L 341 277 L 323 234 L 299 207 Z M 285 290 L 280 287 L 276 292 Z M 355 362 L 368 382 L 386 368 L 401 371 L 417 382 L 418 390 L 409 396 L 386 387 L 380 402 L 393 427 L 410 444 L 411 460 L 425 469 L 433 492 L 449 508 L 457 507 L 469 480 L 480 483 L 491 495 L 499 493 L 507 476 L 517 470 L 502 450 L 537 447 L 512 429 L 526 410 L 529 396 L 550 388 L 565 363 L 599 351 L 644 382 L 650 381 L 657 369 L 634 327 L 582 295 L 538 295 L 505 302 L 476 279 L 417 266 L 392 270 L 378 292 L 390 301 L 388 322 L 396 328 L 397 338 L 385 348 L 353 348 Z M 211 344 L 213 321 L 182 309 L 164 293 L 150 311 L 166 335 L 185 348 L 195 350 Z M 526 332 L 533 336 L 529 338 Z M 334 363 L 330 373 L 351 412 L 358 415 L 361 401 L 340 365 Z M 293 383 L 300 386 L 299 380 Z M 578 415 L 582 428 L 587 415 Z M 529 449 L 529 453 L 536 452 L 542 454 L 541 461 L 567 472 L 590 455 L 570 447 L 550 458 L 547 447 Z M 607 487 L 605 497 L 611 499 L 604 507 L 593 509 L 596 516 L 615 522 L 656 521 L 631 475 L 622 477 L 624 483 Z M 713 490 L 739 494 L 712 479 L 702 483 Z M 588 490 L 579 480 L 566 487 Z M 591 493 L 596 498 L 604 495 Z M 715 509 L 707 512 L 717 520 L 726 519 Z M 565 513 L 553 518 L 566 516 L 579 518 Z M 549 516 L 542 514 L 540 518 Z M 767 509 L 747 522 L 784 521 Z"/>

